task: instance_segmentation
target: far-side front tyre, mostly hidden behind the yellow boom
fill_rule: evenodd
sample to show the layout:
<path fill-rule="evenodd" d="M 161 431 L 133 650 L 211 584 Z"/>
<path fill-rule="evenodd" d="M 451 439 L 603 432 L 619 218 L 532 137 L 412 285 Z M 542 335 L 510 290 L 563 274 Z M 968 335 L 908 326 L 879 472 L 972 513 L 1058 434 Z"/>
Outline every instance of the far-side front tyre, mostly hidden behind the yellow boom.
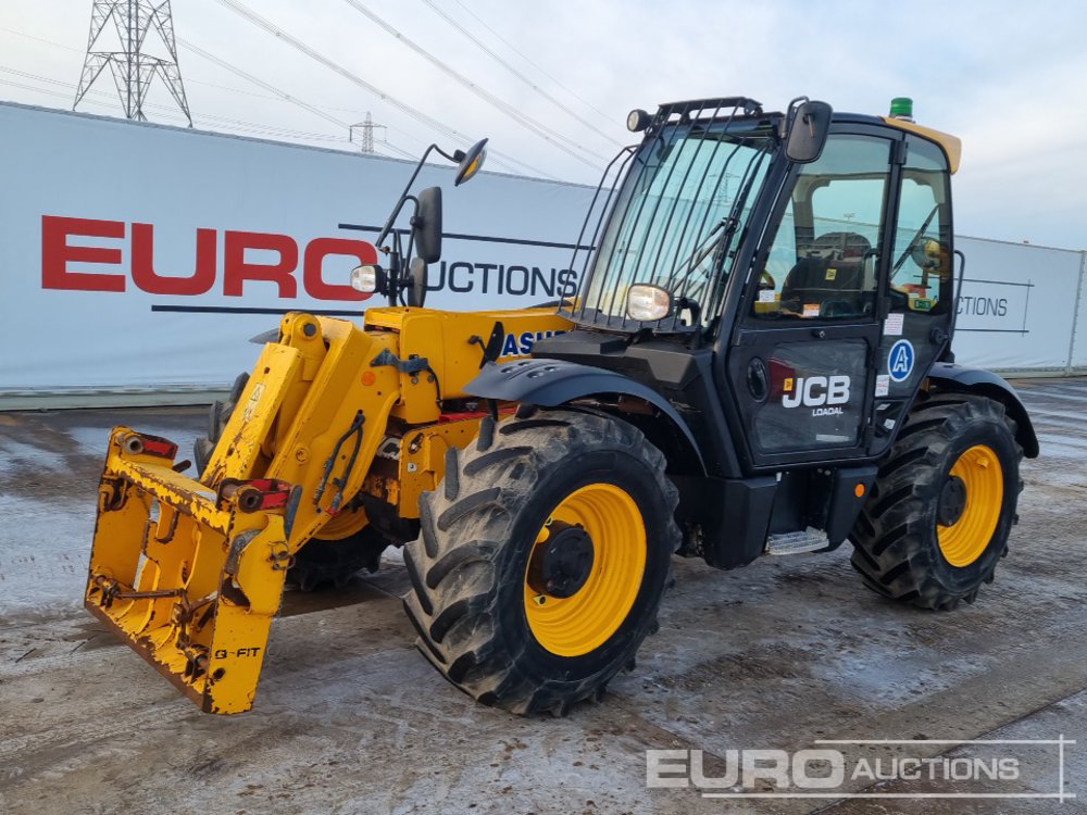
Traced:
<path fill-rule="evenodd" d="M 239 374 L 226 400 L 212 403 L 208 413 L 208 435 L 199 437 L 192 448 L 197 473 L 201 476 L 248 384 L 249 374 Z M 287 570 L 287 580 L 302 591 L 329 585 L 339 588 L 362 569 L 371 574 L 376 572 L 382 552 L 388 547 L 388 540 L 372 527 L 341 540 L 313 538 L 296 553 L 295 562 Z"/>

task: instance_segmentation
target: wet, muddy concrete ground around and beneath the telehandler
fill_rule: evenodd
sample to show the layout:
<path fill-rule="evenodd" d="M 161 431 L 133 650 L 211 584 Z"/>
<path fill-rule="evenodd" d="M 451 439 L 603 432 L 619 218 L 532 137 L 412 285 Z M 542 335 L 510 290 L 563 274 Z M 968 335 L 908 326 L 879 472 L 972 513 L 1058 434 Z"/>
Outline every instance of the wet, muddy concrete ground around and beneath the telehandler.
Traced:
<path fill-rule="evenodd" d="M 336 591 L 289 592 L 255 709 L 200 713 L 80 598 L 110 426 L 189 450 L 205 411 L 0 414 L 0 812 L 1087 813 L 1087 381 L 1019 387 L 1042 457 L 1024 464 L 1011 552 L 976 604 L 886 602 L 848 543 L 732 573 L 677 561 L 635 670 L 562 719 L 511 717 L 447 685 L 412 647 L 395 557 Z M 1079 742 L 1063 747 L 1063 789 L 1079 795 L 1063 802 L 1028 798 L 1059 791 L 1060 745 L 938 743 L 1062 736 Z M 1017 774 L 967 787 L 862 775 L 820 799 L 646 783 L 647 750 L 703 751 L 716 776 L 732 750 L 828 747 L 850 768 L 1014 756 Z M 1020 798 L 846 799 L 963 789 Z"/>

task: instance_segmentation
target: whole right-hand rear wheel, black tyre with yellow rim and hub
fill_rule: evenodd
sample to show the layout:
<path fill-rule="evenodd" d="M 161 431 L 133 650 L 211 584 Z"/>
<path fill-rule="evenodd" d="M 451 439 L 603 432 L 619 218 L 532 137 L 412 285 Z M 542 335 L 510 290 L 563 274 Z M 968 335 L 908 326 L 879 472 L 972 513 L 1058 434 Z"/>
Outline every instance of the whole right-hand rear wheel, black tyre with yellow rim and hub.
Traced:
<path fill-rule="evenodd" d="M 999 402 L 917 402 L 850 535 L 865 585 L 922 609 L 974 602 L 1008 552 L 1022 457 Z"/>

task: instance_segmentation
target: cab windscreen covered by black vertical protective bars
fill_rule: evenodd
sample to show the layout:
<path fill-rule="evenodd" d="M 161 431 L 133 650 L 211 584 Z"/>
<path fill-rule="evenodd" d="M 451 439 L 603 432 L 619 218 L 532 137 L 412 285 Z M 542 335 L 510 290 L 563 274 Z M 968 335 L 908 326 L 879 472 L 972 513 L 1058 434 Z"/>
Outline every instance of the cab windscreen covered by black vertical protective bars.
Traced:
<path fill-rule="evenodd" d="M 776 145 L 761 115 L 758 102 L 741 97 L 661 106 L 641 145 L 623 150 L 597 188 L 571 261 L 578 289 L 566 314 L 627 331 L 709 322 L 724 294 L 724 261 Z M 596 251 L 579 259 L 586 246 Z M 628 318 L 634 284 L 667 289 L 680 308 L 655 323 Z"/>

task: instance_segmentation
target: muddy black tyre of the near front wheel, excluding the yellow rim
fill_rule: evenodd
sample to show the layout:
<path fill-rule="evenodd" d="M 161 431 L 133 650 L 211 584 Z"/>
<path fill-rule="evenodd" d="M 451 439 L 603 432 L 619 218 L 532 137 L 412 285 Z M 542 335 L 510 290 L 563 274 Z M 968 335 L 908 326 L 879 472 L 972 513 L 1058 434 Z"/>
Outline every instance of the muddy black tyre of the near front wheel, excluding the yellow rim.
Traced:
<path fill-rule="evenodd" d="M 485 419 L 475 443 L 450 450 L 445 480 L 420 503 L 420 538 L 404 547 L 411 579 L 404 606 L 420 650 L 458 688 L 513 713 L 563 715 L 582 700 L 600 699 L 657 630 L 680 540 L 678 492 L 664 471 L 664 455 L 611 416 L 554 410 L 497 425 Z M 645 568 L 614 632 L 584 653 L 559 655 L 528 622 L 526 567 L 555 507 L 600 484 L 636 501 Z"/>

